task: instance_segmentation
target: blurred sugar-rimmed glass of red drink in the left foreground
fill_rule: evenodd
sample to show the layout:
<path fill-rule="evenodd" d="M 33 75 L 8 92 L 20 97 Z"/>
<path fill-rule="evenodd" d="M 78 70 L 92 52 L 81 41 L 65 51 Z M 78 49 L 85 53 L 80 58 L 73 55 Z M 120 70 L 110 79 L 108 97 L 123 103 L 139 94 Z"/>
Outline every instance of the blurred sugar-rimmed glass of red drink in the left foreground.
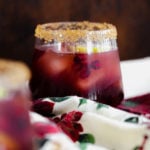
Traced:
<path fill-rule="evenodd" d="M 0 59 L 0 150 L 33 149 L 29 76 L 24 64 Z"/>

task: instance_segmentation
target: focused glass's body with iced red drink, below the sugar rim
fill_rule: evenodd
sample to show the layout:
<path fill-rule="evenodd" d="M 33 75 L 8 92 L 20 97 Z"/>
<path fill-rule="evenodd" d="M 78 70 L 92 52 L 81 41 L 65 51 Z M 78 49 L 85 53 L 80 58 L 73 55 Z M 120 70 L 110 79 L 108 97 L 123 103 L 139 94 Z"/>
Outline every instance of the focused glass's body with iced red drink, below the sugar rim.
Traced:
<path fill-rule="evenodd" d="M 118 105 L 123 91 L 115 44 L 114 39 L 46 44 L 37 39 L 30 82 L 33 97 L 78 95 Z"/>

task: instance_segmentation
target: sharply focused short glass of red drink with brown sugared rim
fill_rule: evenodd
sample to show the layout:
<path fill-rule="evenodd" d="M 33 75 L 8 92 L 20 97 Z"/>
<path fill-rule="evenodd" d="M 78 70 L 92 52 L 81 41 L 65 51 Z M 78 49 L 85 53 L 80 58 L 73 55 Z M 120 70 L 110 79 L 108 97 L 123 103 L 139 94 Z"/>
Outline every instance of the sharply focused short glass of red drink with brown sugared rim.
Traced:
<path fill-rule="evenodd" d="M 37 25 L 30 88 L 34 99 L 77 95 L 117 106 L 123 99 L 117 30 L 108 23 Z"/>

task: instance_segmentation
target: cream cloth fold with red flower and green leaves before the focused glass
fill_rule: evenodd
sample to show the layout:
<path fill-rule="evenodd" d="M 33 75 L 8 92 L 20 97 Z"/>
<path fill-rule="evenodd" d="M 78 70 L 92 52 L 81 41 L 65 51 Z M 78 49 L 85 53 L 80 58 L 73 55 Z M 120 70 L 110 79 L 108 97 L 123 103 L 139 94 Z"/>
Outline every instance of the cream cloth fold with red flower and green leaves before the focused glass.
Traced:
<path fill-rule="evenodd" d="M 54 121 L 78 149 L 150 150 L 150 120 L 142 115 L 77 96 L 39 99 L 32 110 Z"/>

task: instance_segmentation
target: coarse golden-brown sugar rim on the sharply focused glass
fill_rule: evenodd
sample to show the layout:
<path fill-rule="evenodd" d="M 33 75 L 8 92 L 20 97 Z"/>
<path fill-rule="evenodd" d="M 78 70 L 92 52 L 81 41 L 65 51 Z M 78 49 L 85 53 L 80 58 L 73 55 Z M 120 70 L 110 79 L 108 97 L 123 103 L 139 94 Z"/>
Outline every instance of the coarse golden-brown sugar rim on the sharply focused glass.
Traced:
<path fill-rule="evenodd" d="M 109 23 L 56 22 L 37 25 L 35 37 L 49 42 L 76 42 L 81 39 L 101 41 L 106 38 L 116 39 L 117 29 Z"/>

